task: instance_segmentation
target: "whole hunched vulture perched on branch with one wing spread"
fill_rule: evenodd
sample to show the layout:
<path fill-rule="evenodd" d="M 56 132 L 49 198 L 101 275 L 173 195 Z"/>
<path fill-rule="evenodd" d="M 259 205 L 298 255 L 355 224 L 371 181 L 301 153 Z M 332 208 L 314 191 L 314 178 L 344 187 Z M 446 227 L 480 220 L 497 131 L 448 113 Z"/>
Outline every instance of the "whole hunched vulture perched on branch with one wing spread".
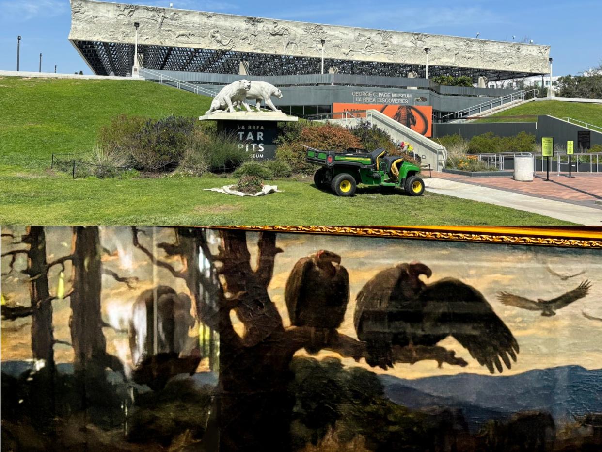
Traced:
<path fill-rule="evenodd" d="M 494 373 L 510 368 L 518 343 L 474 287 L 453 278 L 425 284 L 432 272 L 421 263 L 385 269 L 358 293 L 353 317 L 358 339 L 367 342 L 371 366 L 393 366 L 392 346 L 432 347 L 454 337 L 470 355 Z"/>

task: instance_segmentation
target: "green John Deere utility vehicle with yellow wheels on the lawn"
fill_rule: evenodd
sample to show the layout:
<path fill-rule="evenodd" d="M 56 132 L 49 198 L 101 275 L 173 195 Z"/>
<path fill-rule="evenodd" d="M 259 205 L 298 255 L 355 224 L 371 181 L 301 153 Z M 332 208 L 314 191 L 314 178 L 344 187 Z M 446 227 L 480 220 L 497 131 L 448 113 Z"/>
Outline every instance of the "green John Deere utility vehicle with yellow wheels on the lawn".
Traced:
<path fill-rule="evenodd" d="M 410 196 L 424 192 L 420 168 L 405 162 L 403 155 L 387 155 L 383 148 L 335 152 L 303 147 L 307 149 L 306 160 L 321 166 L 314 174 L 315 186 L 331 189 L 338 196 L 353 196 L 358 184 L 401 187 Z"/>

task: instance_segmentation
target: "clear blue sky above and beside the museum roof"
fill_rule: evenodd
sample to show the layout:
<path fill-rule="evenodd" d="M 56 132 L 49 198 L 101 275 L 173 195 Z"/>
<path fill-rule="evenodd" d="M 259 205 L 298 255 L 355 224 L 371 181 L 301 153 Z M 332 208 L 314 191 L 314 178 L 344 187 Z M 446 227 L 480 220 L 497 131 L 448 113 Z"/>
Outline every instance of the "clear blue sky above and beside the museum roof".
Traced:
<path fill-rule="evenodd" d="M 169 6 L 170 0 L 132 3 Z M 172 0 L 173 7 L 324 24 L 450 34 L 551 45 L 554 75 L 577 74 L 602 60 L 602 0 L 391 1 Z M 16 69 L 17 35 L 22 36 L 20 69 L 90 70 L 67 40 L 69 0 L 0 0 L 0 69 Z"/>

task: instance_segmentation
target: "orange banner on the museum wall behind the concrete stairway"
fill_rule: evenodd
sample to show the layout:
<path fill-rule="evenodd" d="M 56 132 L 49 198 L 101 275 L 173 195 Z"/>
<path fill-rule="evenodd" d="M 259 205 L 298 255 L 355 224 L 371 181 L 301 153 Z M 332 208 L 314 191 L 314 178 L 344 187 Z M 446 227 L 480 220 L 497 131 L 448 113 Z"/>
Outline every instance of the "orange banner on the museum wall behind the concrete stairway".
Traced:
<path fill-rule="evenodd" d="M 332 104 L 333 113 L 358 110 L 378 110 L 425 137 L 432 136 L 433 107 L 430 105 L 343 104 L 341 102 Z M 337 116 L 334 115 L 334 118 Z"/>

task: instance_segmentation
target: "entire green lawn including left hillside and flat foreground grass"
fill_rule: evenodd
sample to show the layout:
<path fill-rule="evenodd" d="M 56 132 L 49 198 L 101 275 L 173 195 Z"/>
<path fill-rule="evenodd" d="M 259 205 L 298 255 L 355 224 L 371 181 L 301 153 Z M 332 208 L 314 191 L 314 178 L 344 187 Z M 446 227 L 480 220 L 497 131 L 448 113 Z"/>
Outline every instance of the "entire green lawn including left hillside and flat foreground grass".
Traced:
<path fill-rule="evenodd" d="M 121 113 L 199 116 L 210 99 L 145 81 L 0 77 L 0 224 L 560 225 L 545 216 L 426 193 L 359 190 L 337 198 L 309 181 L 238 198 L 203 188 L 218 177 L 72 180 L 48 171 L 52 152 L 92 148 Z"/>

